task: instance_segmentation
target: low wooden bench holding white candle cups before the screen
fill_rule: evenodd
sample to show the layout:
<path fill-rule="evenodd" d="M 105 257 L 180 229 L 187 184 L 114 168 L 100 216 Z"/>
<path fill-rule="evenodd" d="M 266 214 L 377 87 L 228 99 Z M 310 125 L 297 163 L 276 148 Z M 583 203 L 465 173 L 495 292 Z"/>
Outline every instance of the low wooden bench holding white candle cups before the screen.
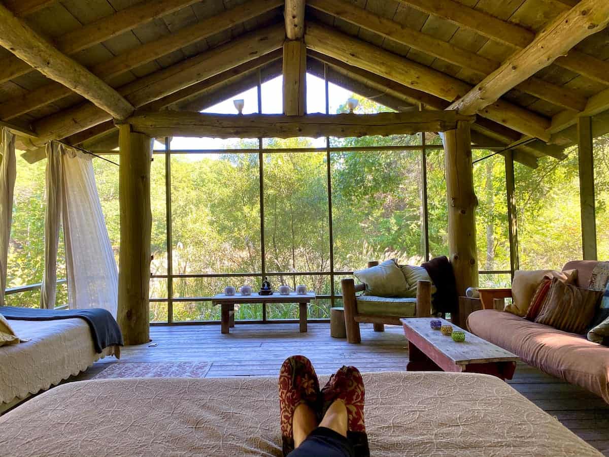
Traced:
<path fill-rule="evenodd" d="M 225 295 L 217 294 L 211 299 L 212 305 L 222 305 L 222 333 L 229 333 L 229 328 L 234 327 L 234 305 L 236 303 L 298 303 L 298 321 L 300 323 L 300 331 L 306 332 L 306 314 L 307 305 L 315 300 L 315 292 L 306 294 L 297 294 L 291 292 L 289 295 L 280 295 L 279 292 L 274 292 L 273 295 L 260 295 L 253 293 L 252 295 Z"/>

